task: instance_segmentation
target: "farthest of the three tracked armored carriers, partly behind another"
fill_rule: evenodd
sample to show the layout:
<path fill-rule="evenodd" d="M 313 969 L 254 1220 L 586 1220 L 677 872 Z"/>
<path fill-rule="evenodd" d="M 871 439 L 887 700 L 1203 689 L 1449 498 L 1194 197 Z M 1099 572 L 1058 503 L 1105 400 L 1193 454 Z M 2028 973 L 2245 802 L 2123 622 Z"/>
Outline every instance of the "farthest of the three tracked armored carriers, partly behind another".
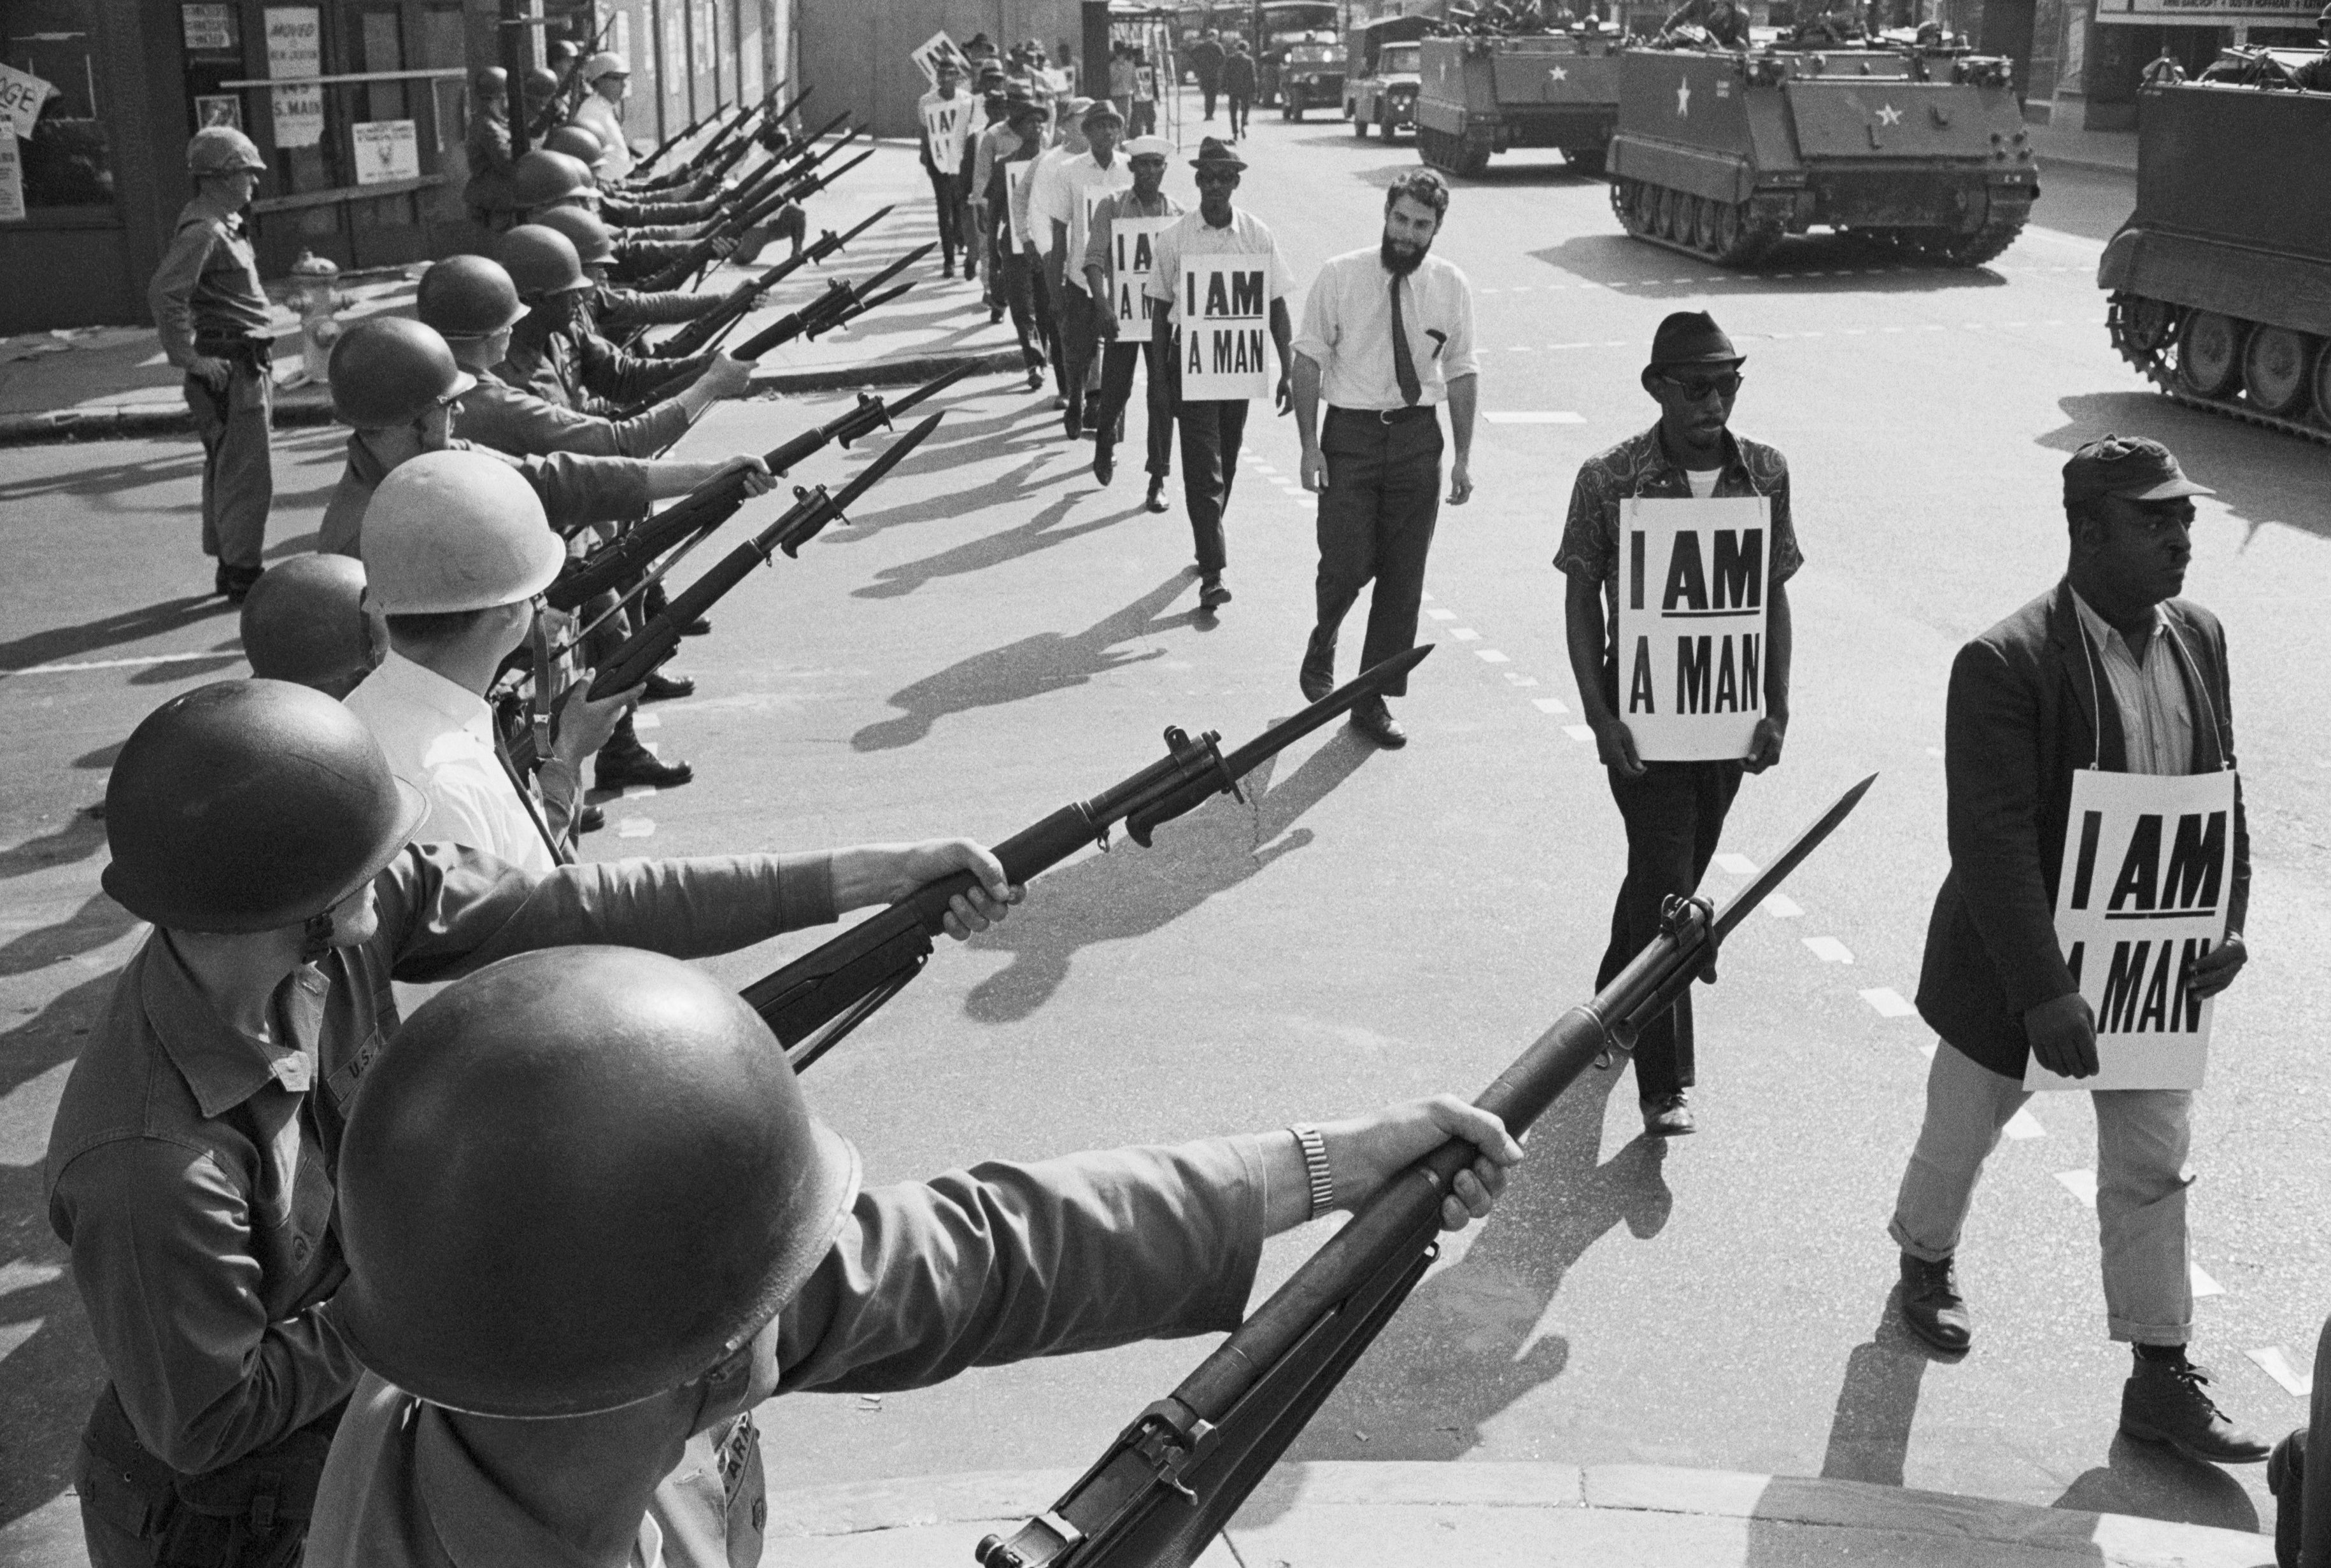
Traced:
<path fill-rule="evenodd" d="M 1580 33 L 1427 37 L 1417 156 L 1478 175 L 1513 147 L 1559 147 L 1580 175 L 1604 172 L 1618 121 L 1620 44 Z"/>

